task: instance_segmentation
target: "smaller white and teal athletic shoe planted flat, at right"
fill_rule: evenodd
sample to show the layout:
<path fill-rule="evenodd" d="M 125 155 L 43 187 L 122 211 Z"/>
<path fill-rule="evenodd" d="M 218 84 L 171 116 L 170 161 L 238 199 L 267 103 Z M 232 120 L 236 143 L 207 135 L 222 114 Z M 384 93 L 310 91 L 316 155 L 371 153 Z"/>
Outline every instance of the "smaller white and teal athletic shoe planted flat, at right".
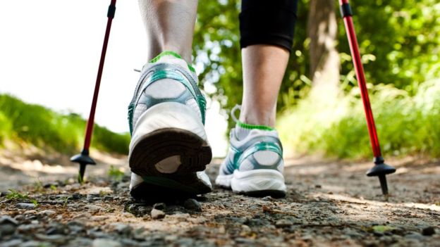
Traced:
<path fill-rule="evenodd" d="M 286 196 L 283 148 L 275 129 L 247 125 L 236 120 L 230 132 L 230 147 L 220 166 L 216 184 L 248 196 Z"/>

